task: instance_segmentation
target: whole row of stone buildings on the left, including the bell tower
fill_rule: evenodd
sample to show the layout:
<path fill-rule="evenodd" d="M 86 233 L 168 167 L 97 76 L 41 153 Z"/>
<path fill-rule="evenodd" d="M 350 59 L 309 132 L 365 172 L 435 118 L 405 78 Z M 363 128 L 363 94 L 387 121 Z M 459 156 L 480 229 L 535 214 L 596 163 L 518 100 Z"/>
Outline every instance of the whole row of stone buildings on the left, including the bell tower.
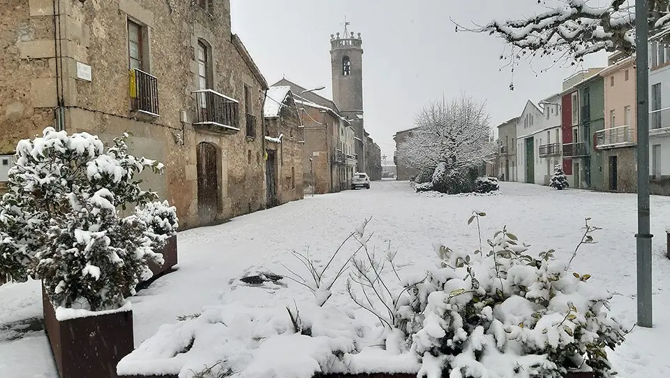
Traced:
<path fill-rule="evenodd" d="M 362 39 L 331 36 L 333 100 L 269 85 L 230 28 L 230 0 L 12 0 L 0 10 L 0 186 L 47 126 L 163 161 L 143 177 L 185 228 L 381 176 L 364 130 Z M 10 10 L 9 10 L 10 8 Z M 375 160 L 376 159 L 376 160 Z M 1 188 L 0 188 L 1 189 Z"/>

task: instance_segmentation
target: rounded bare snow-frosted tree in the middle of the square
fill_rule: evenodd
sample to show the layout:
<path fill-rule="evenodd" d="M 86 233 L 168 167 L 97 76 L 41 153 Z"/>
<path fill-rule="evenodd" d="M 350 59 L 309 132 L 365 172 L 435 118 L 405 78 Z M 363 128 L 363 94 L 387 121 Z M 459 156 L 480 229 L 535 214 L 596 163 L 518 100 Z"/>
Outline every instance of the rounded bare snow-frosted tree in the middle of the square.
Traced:
<path fill-rule="evenodd" d="M 495 152 L 490 119 L 484 103 L 470 97 L 432 102 L 417 113 L 417 128 L 399 146 L 398 159 L 422 170 L 439 163 L 453 170 L 489 161 Z"/>

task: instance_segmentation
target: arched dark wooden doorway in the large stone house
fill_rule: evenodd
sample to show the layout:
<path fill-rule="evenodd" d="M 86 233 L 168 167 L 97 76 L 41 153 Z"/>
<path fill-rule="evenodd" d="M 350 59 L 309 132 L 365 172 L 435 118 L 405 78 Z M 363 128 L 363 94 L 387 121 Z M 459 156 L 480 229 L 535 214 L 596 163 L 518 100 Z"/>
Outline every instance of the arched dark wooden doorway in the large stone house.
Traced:
<path fill-rule="evenodd" d="M 198 174 L 198 217 L 200 224 L 208 224 L 218 213 L 218 164 L 216 146 L 202 142 L 195 152 Z"/>

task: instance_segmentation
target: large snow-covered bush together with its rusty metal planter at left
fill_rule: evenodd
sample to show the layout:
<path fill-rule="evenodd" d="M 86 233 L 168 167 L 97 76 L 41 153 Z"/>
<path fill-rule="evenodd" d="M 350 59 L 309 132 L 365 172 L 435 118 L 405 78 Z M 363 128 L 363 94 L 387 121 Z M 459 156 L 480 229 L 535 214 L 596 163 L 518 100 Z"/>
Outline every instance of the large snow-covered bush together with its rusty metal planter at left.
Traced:
<path fill-rule="evenodd" d="M 151 276 L 149 262 L 163 264 L 154 251 L 177 224 L 174 208 L 151 205 L 156 194 L 137 180 L 163 165 L 128 154 L 126 138 L 105 147 L 89 133 L 47 128 L 21 140 L 0 201 L 0 273 L 42 281 L 61 378 L 116 377 L 116 363 L 133 348 L 126 298 Z M 121 217 L 117 209 L 127 205 L 161 211 L 149 222 L 137 213 Z"/>

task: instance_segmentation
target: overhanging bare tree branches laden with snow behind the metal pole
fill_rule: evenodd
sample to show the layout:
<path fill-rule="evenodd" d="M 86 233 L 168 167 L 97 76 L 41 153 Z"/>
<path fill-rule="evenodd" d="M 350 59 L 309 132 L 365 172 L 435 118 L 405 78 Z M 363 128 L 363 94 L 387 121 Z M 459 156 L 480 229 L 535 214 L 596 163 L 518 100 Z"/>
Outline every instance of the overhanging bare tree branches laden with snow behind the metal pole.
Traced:
<path fill-rule="evenodd" d="M 542 0 L 530 17 L 493 21 L 477 31 L 500 36 L 516 54 L 581 61 L 601 50 L 635 52 L 634 0 Z M 670 29 L 670 0 L 648 0 L 649 35 Z M 457 28 L 458 29 L 458 28 Z"/>

